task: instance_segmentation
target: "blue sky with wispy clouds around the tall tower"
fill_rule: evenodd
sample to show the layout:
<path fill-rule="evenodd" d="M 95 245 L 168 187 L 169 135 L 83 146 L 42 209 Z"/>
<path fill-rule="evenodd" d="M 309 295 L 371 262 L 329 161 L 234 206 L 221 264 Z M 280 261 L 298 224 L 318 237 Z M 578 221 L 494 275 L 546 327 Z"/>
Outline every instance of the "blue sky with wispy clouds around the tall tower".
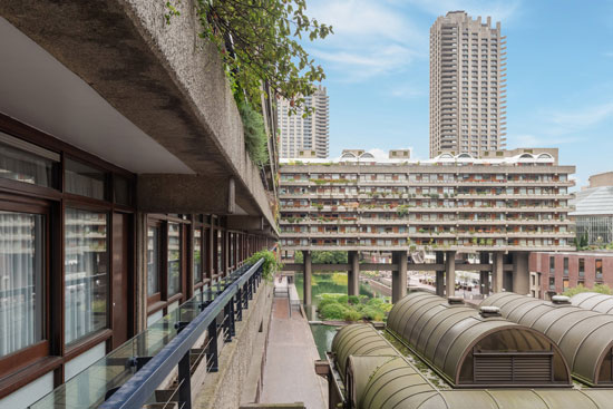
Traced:
<path fill-rule="evenodd" d="M 334 35 L 305 43 L 325 74 L 330 156 L 428 158 L 429 29 L 464 10 L 507 37 L 507 148 L 557 147 L 577 186 L 613 171 L 613 0 L 306 0 Z"/>

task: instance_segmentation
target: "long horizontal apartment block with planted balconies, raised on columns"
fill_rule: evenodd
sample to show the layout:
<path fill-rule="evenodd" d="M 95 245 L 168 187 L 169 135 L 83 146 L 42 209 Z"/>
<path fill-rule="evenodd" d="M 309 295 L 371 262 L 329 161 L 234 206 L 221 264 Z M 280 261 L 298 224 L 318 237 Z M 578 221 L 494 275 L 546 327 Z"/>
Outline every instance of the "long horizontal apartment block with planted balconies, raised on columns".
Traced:
<path fill-rule="evenodd" d="M 483 156 L 282 160 L 282 249 L 572 250 L 575 167 L 557 149 Z"/>

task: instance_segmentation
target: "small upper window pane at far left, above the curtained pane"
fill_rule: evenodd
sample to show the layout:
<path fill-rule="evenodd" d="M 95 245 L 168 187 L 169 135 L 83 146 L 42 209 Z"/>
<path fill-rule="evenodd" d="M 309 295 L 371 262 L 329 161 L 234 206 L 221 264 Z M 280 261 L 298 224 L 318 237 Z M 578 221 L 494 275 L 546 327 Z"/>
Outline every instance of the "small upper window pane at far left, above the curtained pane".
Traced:
<path fill-rule="evenodd" d="M 49 158 L 0 144 L 0 177 L 53 187 L 53 165 L 56 163 Z"/>

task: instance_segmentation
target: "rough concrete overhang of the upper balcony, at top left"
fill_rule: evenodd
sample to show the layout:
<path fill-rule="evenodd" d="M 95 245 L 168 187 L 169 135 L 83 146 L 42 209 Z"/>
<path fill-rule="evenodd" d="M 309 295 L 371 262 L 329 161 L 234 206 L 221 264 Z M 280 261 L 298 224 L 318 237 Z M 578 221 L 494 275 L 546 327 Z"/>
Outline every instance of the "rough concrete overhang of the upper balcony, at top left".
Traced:
<path fill-rule="evenodd" d="M 165 3 L 6 0 L 0 16 L 195 174 L 234 177 L 239 206 L 275 228 L 217 50 L 198 37 L 194 1 L 174 2 L 181 16 L 169 25 Z"/>

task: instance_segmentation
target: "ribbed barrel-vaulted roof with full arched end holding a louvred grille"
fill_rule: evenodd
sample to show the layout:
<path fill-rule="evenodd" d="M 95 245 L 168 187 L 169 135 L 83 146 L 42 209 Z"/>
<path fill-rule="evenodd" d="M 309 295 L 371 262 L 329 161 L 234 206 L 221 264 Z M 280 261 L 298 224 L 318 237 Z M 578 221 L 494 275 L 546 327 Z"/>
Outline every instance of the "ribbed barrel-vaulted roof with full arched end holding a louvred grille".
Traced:
<path fill-rule="evenodd" d="M 486 317 L 415 292 L 393 305 L 388 330 L 456 387 L 570 386 L 568 367 L 547 337 L 500 317 Z"/>

